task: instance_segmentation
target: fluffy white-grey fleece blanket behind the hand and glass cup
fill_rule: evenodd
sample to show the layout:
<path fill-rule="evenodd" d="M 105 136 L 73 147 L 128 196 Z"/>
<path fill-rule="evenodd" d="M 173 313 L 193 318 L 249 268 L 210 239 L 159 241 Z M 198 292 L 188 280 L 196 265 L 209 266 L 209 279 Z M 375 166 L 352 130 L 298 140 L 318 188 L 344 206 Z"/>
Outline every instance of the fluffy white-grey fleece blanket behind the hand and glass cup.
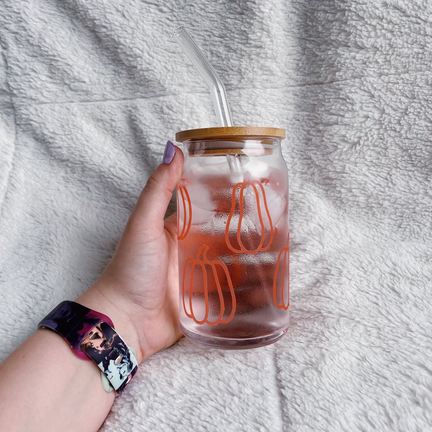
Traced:
<path fill-rule="evenodd" d="M 97 278 L 165 141 L 215 125 L 184 24 L 235 124 L 287 130 L 291 327 L 181 340 L 101 430 L 431 430 L 430 2 L 0 3 L 0 360 Z"/>

